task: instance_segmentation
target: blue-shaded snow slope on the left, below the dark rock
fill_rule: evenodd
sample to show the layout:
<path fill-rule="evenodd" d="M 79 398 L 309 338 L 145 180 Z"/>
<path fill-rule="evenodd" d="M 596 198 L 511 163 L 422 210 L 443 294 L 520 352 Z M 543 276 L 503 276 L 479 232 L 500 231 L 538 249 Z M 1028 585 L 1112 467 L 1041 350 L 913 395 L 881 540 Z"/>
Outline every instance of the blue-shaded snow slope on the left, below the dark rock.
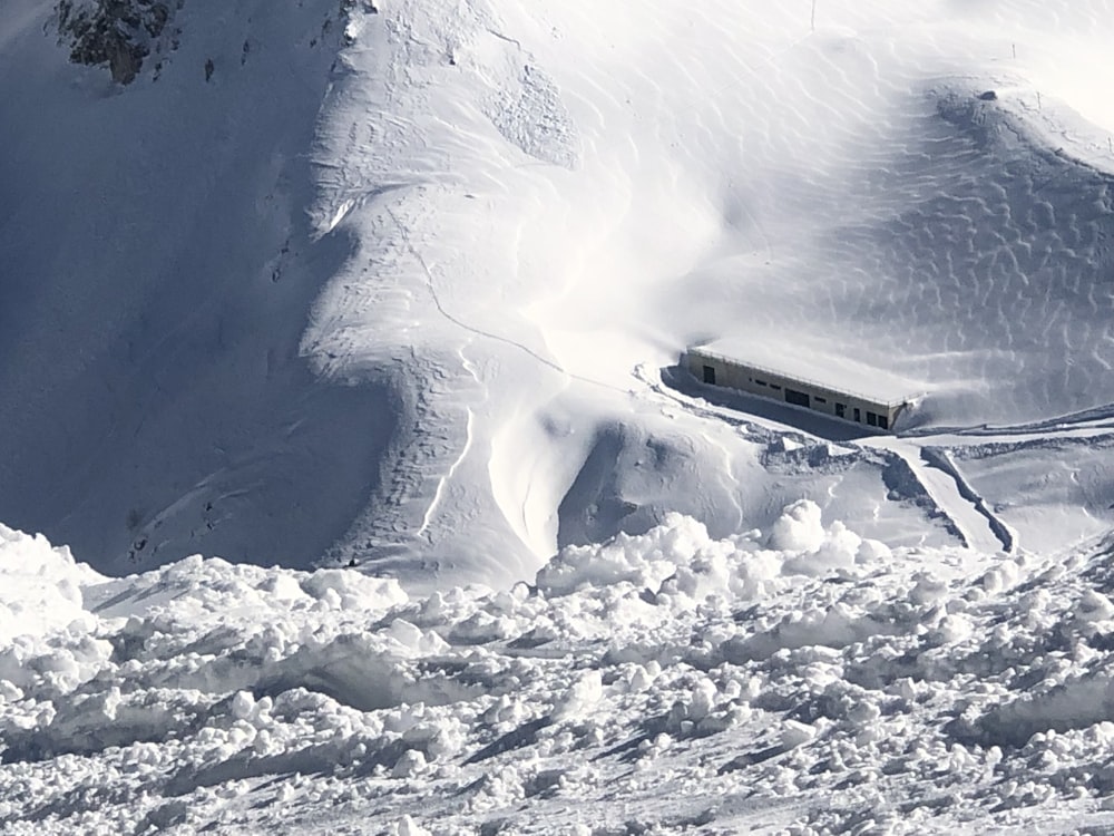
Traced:
<path fill-rule="evenodd" d="M 335 3 L 185 3 L 127 87 L 69 64 L 49 12 L 0 11 L 3 517 L 108 571 L 316 560 L 395 420 L 299 358 L 351 247 L 304 216 Z"/>

